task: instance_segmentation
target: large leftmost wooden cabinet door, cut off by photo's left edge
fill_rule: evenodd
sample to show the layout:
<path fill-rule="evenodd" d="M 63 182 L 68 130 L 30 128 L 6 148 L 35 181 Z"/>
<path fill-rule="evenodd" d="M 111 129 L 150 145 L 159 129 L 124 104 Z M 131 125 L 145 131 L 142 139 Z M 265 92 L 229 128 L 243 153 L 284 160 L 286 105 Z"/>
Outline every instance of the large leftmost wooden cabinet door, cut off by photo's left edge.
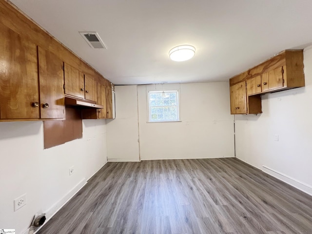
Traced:
<path fill-rule="evenodd" d="M 2 24 L 0 31 L 0 119 L 39 118 L 37 46 Z"/>

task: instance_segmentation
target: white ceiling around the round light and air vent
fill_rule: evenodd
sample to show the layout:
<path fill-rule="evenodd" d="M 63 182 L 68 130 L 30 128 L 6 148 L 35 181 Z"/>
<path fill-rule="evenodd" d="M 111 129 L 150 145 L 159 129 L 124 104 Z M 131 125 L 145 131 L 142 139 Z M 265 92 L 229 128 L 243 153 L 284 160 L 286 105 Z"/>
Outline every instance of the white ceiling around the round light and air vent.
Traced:
<path fill-rule="evenodd" d="M 114 84 L 228 81 L 312 44 L 312 0 L 11 0 Z M 107 50 L 78 33 L 96 31 Z M 195 46 L 175 62 L 176 45 Z"/>

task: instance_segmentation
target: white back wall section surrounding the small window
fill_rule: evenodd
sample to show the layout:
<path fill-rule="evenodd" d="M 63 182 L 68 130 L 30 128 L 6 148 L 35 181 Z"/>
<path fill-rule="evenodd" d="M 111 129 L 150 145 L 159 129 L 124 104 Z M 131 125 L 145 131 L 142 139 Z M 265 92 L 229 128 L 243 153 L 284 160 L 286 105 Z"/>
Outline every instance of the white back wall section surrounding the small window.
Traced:
<path fill-rule="evenodd" d="M 179 90 L 181 122 L 149 123 L 148 91 Z M 139 85 L 142 160 L 234 156 L 228 82 Z"/>

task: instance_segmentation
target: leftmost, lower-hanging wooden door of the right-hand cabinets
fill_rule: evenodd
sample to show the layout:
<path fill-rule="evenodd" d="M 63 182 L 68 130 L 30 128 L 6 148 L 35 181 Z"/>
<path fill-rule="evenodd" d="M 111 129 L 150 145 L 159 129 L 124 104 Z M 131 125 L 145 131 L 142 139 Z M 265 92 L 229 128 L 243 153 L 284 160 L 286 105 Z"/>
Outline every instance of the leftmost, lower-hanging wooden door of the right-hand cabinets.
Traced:
<path fill-rule="evenodd" d="M 231 114 L 247 113 L 246 82 L 240 82 L 230 87 Z"/>

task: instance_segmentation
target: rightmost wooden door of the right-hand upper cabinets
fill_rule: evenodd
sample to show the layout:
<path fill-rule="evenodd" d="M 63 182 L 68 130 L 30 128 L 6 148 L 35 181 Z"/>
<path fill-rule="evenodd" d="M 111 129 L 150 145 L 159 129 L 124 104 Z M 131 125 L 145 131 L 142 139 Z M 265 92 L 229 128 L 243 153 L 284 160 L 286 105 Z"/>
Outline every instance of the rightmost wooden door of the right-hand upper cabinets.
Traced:
<path fill-rule="evenodd" d="M 262 92 L 283 87 L 283 67 L 262 74 Z"/>

